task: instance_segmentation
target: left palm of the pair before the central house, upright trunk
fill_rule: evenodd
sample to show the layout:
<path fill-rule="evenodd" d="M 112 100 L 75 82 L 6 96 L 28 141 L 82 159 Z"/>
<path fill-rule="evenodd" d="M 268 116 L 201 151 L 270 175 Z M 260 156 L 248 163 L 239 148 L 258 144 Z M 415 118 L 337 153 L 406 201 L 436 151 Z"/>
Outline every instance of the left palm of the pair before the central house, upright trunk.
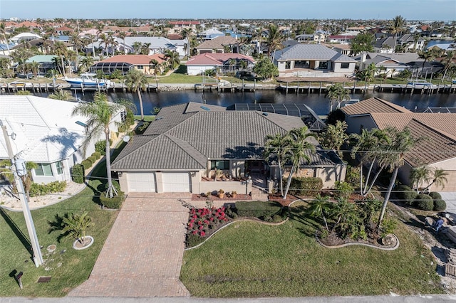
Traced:
<path fill-rule="evenodd" d="M 289 141 L 288 135 L 283 134 L 269 134 L 265 138 L 264 143 L 264 159 L 268 164 L 272 161 L 277 161 L 277 166 L 279 166 L 279 184 L 280 184 L 280 194 L 284 196 L 284 185 L 283 185 L 283 165 L 284 165 L 284 156 L 286 151 L 286 144 Z"/>

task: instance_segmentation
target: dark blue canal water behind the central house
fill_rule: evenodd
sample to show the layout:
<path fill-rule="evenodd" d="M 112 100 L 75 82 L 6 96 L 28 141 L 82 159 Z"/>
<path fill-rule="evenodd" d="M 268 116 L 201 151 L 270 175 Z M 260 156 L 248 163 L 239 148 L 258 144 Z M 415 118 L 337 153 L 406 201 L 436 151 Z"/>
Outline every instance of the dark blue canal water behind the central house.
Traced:
<path fill-rule="evenodd" d="M 46 93 L 36 92 L 35 95 L 46 97 Z M 75 91 L 73 91 L 75 95 Z M 76 92 L 76 97 L 81 100 L 93 100 L 93 92 Z M 111 101 L 126 99 L 133 100 L 139 110 L 139 99 L 136 93 L 130 92 L 109 92 Z M 427 107 L 456 107 L 456 94 L 439 93 L 428 95 L 427 93 L 413 94 L 393 92 L 372 92 L 366 94 L 351 94 L 351 99 L 364 100 L 370 97 L 379 97 L 407 108 L 408 110 L 424 110 Z M 228 107 L 235 103 L 299 103 L 311 107 L 318 115 L 328 115 L 330 102 L 325 94 L 285 92 L 279 90 L 256 90 L 255 92 L 220 92 L 217 91 L 195 91 L 182 90 L 177 92 L 142 92 L 142 104 L 144 114 L 151 115 L 155 107 L 165 107 L 185 102 L 207 103 L 209 105 L 221 105 Z"/>

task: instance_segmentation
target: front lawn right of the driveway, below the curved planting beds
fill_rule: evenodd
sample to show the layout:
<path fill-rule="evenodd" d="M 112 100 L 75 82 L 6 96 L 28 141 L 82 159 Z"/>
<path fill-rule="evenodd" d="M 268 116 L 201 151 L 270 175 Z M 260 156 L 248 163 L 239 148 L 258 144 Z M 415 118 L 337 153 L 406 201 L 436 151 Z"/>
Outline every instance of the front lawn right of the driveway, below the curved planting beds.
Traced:
<path fill-rule="evenodd" d="M 318 224 L 292 208 L 278 226 L 239 222 L 186 251 L 180 279 L 196 297 L 301 297 L 443 293 L 432 254 L 403 224 L 388 252 L 316 243 Z M 435 262 L 434 262 L 435 263 Z"/>

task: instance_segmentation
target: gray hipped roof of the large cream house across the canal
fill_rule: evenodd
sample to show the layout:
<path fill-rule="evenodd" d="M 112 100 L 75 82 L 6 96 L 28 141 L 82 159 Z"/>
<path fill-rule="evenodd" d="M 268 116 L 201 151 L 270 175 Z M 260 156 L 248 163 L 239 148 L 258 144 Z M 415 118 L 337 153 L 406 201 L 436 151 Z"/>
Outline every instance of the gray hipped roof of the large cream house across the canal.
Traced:
<path fill-rule="evenodd" d="M 336 52 L 320 44 L 296 44 L 282 50 L 277 50 L 276 60 L 337 60 L 355 62 L 352 58 Z"/>

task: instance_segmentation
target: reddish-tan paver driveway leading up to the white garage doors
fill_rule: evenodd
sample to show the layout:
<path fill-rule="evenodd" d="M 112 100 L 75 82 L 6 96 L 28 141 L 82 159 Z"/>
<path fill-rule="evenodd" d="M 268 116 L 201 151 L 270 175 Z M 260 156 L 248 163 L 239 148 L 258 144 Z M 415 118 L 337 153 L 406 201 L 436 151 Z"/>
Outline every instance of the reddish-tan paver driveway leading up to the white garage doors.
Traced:
<path fill-rule="evenodd" d="M 190 194 L 134 193 L 130 196 L 115 220 L 89 279 L 69 296 L 190 295 L 179 280 L 188 209 L 178 198 L 188 201 Z M 142 198 L 138 198 L 140 196 Z"/>

